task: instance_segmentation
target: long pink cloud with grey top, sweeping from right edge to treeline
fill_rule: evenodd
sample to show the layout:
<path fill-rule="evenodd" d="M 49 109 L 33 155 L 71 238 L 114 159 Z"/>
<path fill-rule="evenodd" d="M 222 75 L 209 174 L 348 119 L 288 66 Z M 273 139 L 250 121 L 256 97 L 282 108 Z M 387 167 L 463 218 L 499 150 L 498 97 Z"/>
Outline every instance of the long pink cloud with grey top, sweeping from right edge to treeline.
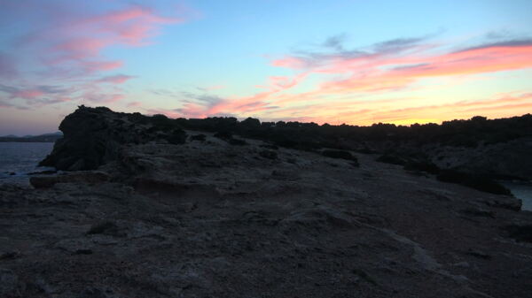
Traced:
<path fill-rule="evenodd" d="M 271 65 L 297 72 L 293 77 L 269 78 L 266 91 L 253 96 L 227 98 L 220 103 L 204 107 L 204 114 L 237 113 L 242 116 L 255 114 L 262 117 L 282 118 L 292 111 L 298 117 L 298 109 L 307 118 L 326 122 L 342 119 L 352 123 L 360 120 L 359 113 L 364 111 L 372 120 L 396 120 L 413 117 L 406 111 L 387 108 L 379 111 L 379 116 L 371 109 L 361 109 L 356 101 L 338 102 L 332 100 L 325 104 L 324 98 L 335 96 L 382 96 L 390 92 L 414 88 L 417 83 L 436 77 L 473 76 L 482 73 L 497 73 L 532 68 L 532 40 L 519 39 L 488 42 L 460 50 L 445 50 L 447 46 L 429 42 L 430 37 L 400 38 L 377 42 L 371 46 L 346 50 L 343 36 L 333 36 L 322 43 L 322 51 L 298 51 L 295 55 L 274 59 Z M 328 52 L 326 50 L 329 50 Z M 305 80 L 321 80 L 314 89 L 300 92 L 286 92 L 297 88 Z M 496 101 L 499 101 L 497 99 Z M 512 98 L 512 100 L 518 100 Z M 481 110 L 481 105 L 491 102 L 467 103 Z M 464 111 L 463 104 L 452 103 L 444 108 L 456 108 Z M 332 107 L 329 107 L 332 106 Z M 479 106 L 479 108 L 476 108 Z M 340 109 L 338 108 L 340 107 Z M 501 109 L 528 107 L 520 105 L 501 105 Z M 473 111 L 473 108 L 471 108 Z M 341 111 L 341 117 L 339 113 Z M 349 112 L 352 111 L 352 112 Z M 389 111 L 389 112 L 388 112 Z M 412 111 L 418 111 L 416 109 Z M 523 110 L 524 111 L 524 110 Z M 395 112 L 395 116 L 393 113 Z M 365 117 L 365 116 L 364 116 Z M 385 118 L 386 117 L 386 118 Z M 440 116 L 438 116 L 440 117 Z M 351 120 L 349 120 L 349 118 Z M 417 115 L 419 118 L 419 115 Z M 437 118 L 435 115 L 433 118 Z M 367 118 L 369 119 L 369 118 Z"/>

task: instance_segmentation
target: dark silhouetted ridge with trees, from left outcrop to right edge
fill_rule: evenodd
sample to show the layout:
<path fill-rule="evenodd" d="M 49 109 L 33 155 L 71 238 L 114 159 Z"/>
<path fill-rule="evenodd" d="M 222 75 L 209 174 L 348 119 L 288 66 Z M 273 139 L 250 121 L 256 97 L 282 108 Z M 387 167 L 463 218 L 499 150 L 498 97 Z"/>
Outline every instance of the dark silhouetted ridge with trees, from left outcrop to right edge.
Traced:
<path fill-rule="evenodd" d="M 163 141 L 184 143 L 184 130 L 215 133 L 232 145 L 241 137 L 271 146 L 317 151 L 352 150 L 379 154 L 378 160 L 402 164 L 410 171 L 437 174 L 440 169 L 469 172 L 487 179 L 532 179 L 532 115 L 445 121 L 442 125 L 332 126 L 302 122 L 239 121 L 233 117 L 168 118 L 121 113 L 106 107 L 81 106 L 68 115 L 57 141 L 42 165 L 61 170 L 90 170 L 117 157 L 121 144 Z M 192 140 L 196 140 L 193 137 Z"/>

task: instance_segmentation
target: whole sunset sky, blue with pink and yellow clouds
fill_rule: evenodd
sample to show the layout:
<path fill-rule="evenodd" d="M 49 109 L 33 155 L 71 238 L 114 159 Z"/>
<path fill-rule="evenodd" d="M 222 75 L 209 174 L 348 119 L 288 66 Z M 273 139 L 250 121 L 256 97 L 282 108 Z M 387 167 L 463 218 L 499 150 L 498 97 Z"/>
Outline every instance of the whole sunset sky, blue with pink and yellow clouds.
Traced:
<path fill-rule="evenodd" d="M 0 135 L 78 105 L 441 123 L 532 111 L 532 1 L 0 0 Z"/>

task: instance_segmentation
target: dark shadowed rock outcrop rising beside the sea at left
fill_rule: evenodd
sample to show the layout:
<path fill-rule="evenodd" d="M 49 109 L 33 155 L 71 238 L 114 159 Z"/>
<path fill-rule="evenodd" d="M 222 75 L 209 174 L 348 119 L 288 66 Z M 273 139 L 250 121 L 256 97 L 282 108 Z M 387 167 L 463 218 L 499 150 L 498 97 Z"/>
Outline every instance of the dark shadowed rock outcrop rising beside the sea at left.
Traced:
<path fill-rule="evenodd" d="M 94 170 L 116 160 L 121 145 L 148 141 L 184 143 L 186 134 L 172 120 L 159 115 L 113 112 L 105 107 L 80 106 L 66 116 L 59 130 L 64 137 L 54 145 L 51 154 L 40 165 L 58 170 Z"/>

